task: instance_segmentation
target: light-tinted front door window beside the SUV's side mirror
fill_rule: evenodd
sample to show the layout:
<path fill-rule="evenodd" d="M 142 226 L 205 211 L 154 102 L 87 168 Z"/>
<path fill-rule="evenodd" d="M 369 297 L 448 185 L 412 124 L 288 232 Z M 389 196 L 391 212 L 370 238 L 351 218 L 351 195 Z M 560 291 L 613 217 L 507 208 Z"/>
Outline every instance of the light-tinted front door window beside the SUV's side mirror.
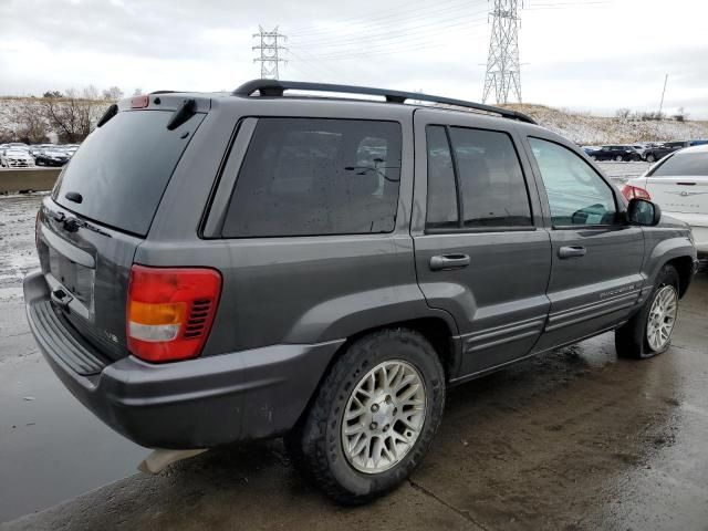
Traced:
<path fill-rule="evenodd" d="M 554 226 L 612 225 L 615 196 L 575 153 L 549 140 L 529 138 L 551 207 Z"/>

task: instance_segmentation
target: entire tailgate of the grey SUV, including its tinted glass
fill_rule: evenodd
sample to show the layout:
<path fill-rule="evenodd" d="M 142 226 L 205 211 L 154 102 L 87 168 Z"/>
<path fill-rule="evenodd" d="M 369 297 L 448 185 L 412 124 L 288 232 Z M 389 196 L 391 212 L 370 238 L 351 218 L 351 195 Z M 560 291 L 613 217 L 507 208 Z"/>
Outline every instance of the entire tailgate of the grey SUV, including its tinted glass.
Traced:
<path fill-rule="evenodd" d="M 38 252 L 53 305 L 111 358 L 127 354 L 133 257 L 206 112 L 170 131 L 175 107 L 164 101 L 165 107 L 123 110 L 94 131 L 38 218 Z"/>

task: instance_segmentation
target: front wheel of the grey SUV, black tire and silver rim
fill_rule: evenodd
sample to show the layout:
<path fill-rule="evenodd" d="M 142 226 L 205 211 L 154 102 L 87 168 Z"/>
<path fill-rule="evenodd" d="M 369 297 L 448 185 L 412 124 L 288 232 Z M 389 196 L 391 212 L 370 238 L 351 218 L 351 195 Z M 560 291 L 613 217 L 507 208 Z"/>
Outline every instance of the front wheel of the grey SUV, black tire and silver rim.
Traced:
<path fill-rule="evenodd" d="M 652 291 L 652 295 L 644 303 L 642 310 L 626 324 L 615 330 L 617 356 L 645 360 L 666 352 L 671 344 L 671 333 L 678 319 L 678 272 L 673 266 L 664 266 L 656 279 L 654 291 Z M 667 321 L 664 322 L 665 326 L 668 327 L 665 341 L 663 335 L 660 337 L 662 341 L 657 341 L 656 334 L 652 337 L 652 332 L 656 330 L 653 321 L 656 322 L 656 315 L 658 315 L 653 310 L 656 309 L 655 304 L 659 304 L 657 299 L 660 298 L 670 300 L 674 304 L 673 316 L 663 315 L 660 317 L 662 320 L 670 319 L 670 325 L 668 325 Z"/>

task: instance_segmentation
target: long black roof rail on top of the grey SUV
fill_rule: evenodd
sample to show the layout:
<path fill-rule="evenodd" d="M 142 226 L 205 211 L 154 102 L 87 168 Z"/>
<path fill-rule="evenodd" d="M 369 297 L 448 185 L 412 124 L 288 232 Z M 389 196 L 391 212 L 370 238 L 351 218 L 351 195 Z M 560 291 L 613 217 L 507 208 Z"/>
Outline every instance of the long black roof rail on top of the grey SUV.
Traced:
<path fill-rule="evenodd" d="M 312 92 L 339 92 L 345 94 L 365 94 L 369 96 L 383 96 L 388 103 L 405 103 L 407 100 L 441 103 L 456 107 L 473 108 L 485 113 L 497 114 L 504 118 L 518 119 L 535 124 L 533 118 L 517 111 L 485 105 L 482 103 L 466 102 L 450 97 L 431 96 L 417 92 L 389 91 L 386 88 L 373 88 L 369 86 L 335 85 L 331 83 L 308 83 L 303 81 L 280 81 L 280 80 L 252 80 L 243 83 L 231 94 L 235 96 L 250 96 L 259 92 L 262 96 L 282 96 L 285 91 L 312 91 Z"/>

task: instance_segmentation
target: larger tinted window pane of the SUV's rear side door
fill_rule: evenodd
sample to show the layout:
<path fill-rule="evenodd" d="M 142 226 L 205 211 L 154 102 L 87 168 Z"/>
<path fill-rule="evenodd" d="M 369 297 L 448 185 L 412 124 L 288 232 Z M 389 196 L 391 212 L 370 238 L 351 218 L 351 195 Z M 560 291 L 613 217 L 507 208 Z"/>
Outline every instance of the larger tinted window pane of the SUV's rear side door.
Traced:
<path fill-rule="evenodd" d="M 506 133 L 450 127 L 462 191 L 465 227 L 530 227 L 521 164 Z"/>

